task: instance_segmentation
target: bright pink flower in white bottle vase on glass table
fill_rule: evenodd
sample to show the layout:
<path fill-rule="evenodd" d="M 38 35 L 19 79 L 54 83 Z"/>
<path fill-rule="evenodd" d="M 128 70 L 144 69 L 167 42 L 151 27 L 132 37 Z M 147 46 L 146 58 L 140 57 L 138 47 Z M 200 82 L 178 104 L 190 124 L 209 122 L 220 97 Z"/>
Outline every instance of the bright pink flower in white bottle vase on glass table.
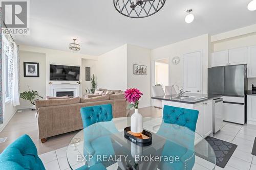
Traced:
<path fill-rule="evenodd" d="M 137 88 L 124 91 L 124 98 L 130 103 L 129 109 L 134 108 L 135 112 L 131 116 L 131 132 L 134 136 L 140 136 L 143 132 L 142 115 L 139 113 L 139 100 L 143 94 Z"/>

